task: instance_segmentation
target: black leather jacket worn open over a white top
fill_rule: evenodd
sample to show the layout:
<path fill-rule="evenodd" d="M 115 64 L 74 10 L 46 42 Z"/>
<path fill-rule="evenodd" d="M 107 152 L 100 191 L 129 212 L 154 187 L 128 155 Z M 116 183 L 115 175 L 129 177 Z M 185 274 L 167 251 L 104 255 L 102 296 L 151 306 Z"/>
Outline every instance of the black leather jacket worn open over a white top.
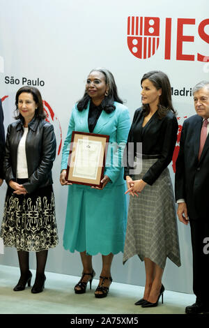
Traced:
<path fill-rule="evenodd" d="M 24 126 L 20 119 L 8 126 L 3 163 L 7 184 L 17 179 L 17 147 L 23 133 Z M 29 172 L 29 181 L 23 184 L 26 191 L 32 193 L 36 188 L 52 185 L 52 166 L 56 157 L 56 137 L 52 124 L 33 117 L 29 123 L 25 148 Z"/>

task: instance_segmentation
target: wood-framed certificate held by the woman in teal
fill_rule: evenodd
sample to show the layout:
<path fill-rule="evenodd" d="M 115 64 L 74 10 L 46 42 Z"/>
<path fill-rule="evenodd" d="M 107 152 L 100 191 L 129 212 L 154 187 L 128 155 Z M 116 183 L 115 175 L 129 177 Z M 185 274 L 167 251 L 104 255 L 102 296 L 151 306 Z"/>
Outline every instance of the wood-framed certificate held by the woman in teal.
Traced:
<path fill-rule="evenodd" d="M 102 188 L 109 135 L 72 131 L 66 181 Z"/>

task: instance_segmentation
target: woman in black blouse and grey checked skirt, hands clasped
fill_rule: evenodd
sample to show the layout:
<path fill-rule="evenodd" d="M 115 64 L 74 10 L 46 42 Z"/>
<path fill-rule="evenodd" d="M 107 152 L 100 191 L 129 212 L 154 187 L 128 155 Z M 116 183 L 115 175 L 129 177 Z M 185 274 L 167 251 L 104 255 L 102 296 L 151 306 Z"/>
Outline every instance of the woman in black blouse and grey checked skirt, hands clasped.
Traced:
<path fill-rule="evenodd" d="M 130 204 L 123 263 L 136 254 L 144 260 L 144 297 L 136 305 L 146 308 L 157 306 L 163 295 L 167 258 L 180 266 L 176 206 L 168 169 L 178 122 L 166 74 L 157 70 L 144 74 L 141 87 L 142 107 L 134 113 L 127 139 L 125 179 Z"/>

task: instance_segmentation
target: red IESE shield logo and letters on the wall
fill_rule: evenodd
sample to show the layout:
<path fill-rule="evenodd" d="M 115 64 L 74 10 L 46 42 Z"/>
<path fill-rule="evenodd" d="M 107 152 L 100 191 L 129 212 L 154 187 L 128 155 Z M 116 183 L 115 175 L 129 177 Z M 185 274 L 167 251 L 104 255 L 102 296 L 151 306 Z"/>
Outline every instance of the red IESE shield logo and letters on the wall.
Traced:
<path fill-rule="evenodd" d="M 195 18 L 178 18 L 176 59 L 194 61 L 194 54 L 183 54 L 183 43 L 194 42 L 194 36 L 185 36 L 183 27 L 185 24 L 195 24 Z M 205 27 L 209 25 L 209 19 L 203 20 L 198 27 L 200 38 L 209 44 L 209 35 Z M 172 18 L 166 18 L 164 59 L 171 59 L 171 27 Z M 127 45 L 130 52 L 137 58 L 146 59 L 155 54 L 160 43 L 160 18 L 159 17 L 127 17 Z M 209 56 L 197 52 L 198 61 L 209 61 Z"/>

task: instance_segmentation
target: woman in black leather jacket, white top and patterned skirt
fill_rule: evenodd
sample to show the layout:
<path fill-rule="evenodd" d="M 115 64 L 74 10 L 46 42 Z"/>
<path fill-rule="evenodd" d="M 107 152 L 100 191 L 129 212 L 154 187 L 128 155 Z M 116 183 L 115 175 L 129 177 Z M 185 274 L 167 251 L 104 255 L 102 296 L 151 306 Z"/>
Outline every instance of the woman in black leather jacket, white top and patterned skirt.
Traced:
<path fill-rule="evenodd" d="M 36 280 L 31 292 L 42 292 L 49 248 L 58 243 L 52 165 L 56 138 L 45 121 L 40 91 L 22 87 L 15 98 L 16 121 L 8 126 L 3 163 L 8 190 L 1 225 L 5 246 L 17 248 L 20 280 L 15 291 L 31 285 L 29 251 L 36 251 Z"/>

